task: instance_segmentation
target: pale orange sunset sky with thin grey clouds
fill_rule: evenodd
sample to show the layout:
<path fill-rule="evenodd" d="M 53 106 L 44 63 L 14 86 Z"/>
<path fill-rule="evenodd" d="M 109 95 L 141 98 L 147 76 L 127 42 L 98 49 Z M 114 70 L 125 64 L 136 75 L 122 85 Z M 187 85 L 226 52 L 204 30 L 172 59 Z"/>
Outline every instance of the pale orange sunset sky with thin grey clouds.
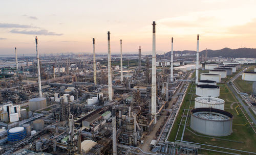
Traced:
<path fill-rule="evenodd" d="M 157 51 L 200 50 L 224 47 L 256 48 L 255 0 L 94 0 L 94 1 L 1 1 L 0 55 L 35 53 L 35 35 L 40 54 L 111 51 L 142 54 L 152 50 L 152 21 L 155 20 Z"/>

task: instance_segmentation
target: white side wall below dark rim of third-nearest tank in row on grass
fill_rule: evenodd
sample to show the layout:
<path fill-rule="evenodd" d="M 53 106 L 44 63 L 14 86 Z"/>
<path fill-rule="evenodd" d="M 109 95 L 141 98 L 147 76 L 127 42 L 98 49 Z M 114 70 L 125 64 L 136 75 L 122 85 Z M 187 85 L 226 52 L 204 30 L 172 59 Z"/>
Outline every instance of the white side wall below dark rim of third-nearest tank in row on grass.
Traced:
<path fill-rule="evenodd" d="M 196 87 L 196 95 L 202 97 L 219 97 L 220 96 L 220 87 L 219 88 L 201 88 Z"/>

